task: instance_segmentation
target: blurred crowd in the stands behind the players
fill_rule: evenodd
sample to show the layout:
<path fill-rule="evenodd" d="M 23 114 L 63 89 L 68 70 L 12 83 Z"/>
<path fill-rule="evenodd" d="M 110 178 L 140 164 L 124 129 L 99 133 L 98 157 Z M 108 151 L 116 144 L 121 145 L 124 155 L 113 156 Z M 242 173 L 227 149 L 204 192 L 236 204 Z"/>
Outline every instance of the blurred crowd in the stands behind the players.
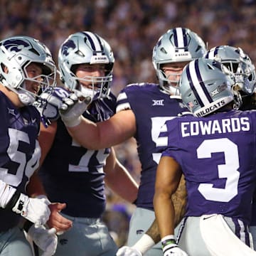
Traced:
<path fill-rule="evenodd" d="M 0 40 L 33 36 L 50 48 L 57 63 L 58 48 L 71 33 L 92 31 L 114 51 L 112 90 L 131 82 L 156 82 L 152 49 L 169 28 L 190 28 L 208 43 L 240 47 L 256 60 L 255 0 L 0 0 Z M 134 139 L 116 146 L 119 160 L 139 182 L 140 164 Z M 134 209 L 107 189 L 103 216 L 118 245 L 127 238 Z"/>

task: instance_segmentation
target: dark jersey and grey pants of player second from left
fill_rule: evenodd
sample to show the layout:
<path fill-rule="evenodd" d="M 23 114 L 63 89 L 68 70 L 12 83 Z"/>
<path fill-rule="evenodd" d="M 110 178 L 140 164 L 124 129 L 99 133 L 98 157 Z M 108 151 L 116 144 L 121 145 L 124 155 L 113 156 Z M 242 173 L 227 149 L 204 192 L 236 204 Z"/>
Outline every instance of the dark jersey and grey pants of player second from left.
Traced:
<path fill-rule="evenodd" d="M 110 118 L 116 106 L 111 96 L 94 100 L 83 116 L 92 122 Z M 117 245 L 100 219 L 106 206 L 103 168 L 110 148 L 85 149 L 70 137 L 60 118 L 57 125 L 39 175 L 50 201 L 67 203 L 61 213 L 73 221 L 73 228 L 58 235 L 55 255 L 115 255 Z"/>

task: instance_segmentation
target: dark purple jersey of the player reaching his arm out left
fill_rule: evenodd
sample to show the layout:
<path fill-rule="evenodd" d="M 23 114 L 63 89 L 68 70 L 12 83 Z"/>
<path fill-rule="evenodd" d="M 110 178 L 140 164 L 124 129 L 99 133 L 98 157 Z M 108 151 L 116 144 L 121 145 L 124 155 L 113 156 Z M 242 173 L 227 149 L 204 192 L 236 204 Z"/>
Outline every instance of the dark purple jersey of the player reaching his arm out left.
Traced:
<path fill-rule="evenodd" d="M 152 83 L 125 87 L 117 98 L 117 112 L 126 109 L 131 109 L 136 117 L 137 132 L 134 137 L 142 164 L 137 206 L 153 210 L 156 167 L 161 156 L 159 150 L 162 148 L 156 146 L 160 127 L 166 120 L 188 109 L 179 97 L 170 97 L 160 90 L 159 85 Z"/>

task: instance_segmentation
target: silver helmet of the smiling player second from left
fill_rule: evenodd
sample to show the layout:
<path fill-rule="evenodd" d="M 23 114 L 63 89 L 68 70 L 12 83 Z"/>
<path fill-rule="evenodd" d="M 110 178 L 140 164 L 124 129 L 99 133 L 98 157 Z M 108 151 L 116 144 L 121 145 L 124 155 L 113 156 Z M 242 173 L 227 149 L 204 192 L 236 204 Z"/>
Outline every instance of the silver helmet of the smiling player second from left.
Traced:
<path fill-rule="evenodd" d="M 105 64 L 105 76 L 78 78 L 75 69 L 79 64 Z M 110 82 L 114 66 L 114 55 L 110 45 L 96 33 L 83 31 L 70 35 L 60 46 L 58 53 L 60 76 L 66 87 L 72 92 L 82 92 L 84 97 L 106 97 L 110 92 Z M 87 89 L 80 81 L 91 82 Z"/>

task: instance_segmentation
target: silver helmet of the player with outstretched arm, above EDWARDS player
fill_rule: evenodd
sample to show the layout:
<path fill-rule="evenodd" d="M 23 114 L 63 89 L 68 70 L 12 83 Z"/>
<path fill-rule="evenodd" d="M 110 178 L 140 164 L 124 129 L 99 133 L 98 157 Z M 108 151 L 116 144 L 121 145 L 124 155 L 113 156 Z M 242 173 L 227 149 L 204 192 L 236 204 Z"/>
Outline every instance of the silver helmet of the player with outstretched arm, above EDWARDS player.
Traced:
<path fill-rule="evenodd" d="M 169 80 L 161 65 L 165 63 L 188 62 L 201 58 L 206 53 L 206 44 L 188 28 L 173 28 L 159 38 L 153 49 L 152 62 L 159 85 L 172 95 L 179 95 L 178 80 Z"/>

